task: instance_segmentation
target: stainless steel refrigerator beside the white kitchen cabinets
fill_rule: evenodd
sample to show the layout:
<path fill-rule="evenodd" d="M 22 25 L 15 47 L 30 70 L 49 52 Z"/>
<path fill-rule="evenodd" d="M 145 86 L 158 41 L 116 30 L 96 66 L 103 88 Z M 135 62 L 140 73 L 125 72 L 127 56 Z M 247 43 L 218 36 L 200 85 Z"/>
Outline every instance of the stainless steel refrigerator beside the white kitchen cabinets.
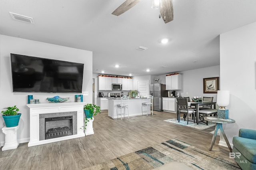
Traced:
<path fill-rule="evenodd" d="M 150 85 L 150 95 L 154 96 L 154 111 L 163 111 L 162 97 L 168 97 L 164 84 L 152 84 Z"/>

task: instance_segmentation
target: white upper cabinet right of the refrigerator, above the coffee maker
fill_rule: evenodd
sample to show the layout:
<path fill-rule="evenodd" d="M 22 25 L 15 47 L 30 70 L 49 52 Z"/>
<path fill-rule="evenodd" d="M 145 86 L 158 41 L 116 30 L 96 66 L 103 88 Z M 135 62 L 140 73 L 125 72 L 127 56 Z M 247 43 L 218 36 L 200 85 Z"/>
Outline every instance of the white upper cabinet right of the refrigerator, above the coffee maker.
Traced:
<path fill-rule="evenodd" d="M 182 89 L 182 75 L 181 74 L 170 74 L 166 76 L 166 90 L 181 90 Z"/>

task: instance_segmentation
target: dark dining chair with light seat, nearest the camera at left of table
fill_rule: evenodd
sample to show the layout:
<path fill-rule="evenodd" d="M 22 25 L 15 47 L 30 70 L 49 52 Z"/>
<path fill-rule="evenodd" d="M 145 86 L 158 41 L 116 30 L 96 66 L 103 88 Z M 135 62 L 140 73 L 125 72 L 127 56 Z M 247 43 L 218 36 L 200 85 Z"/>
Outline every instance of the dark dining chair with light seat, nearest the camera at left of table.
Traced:
<path fill-rule="evenodd" d="M 178 122 L 180 122 L 180 114 L 186 115 L 184 117 L 184 121 L 186 121 L 187 117 L 187 125 L 188 125 L 188 115 L 192 115 L 193 121 L 195 123 L 195 113 L 193 109 L 189 109 L 188 107 L 188 99 L 187 98 L 176 98 L 178 103 Z"/>

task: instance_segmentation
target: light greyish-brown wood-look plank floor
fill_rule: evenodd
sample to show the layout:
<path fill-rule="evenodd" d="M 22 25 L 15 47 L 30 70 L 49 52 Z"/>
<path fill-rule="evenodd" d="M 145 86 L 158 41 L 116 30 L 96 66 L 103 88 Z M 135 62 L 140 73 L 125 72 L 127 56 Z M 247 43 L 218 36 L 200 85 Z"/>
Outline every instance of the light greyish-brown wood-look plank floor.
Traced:
<path fill-rule="evenodd" d="M 178 139 L 208 150 L 214 127 L 198 130 L 168 123 L 176 114 L 154 111 L 154 115 L 113 120 L 108 112 L 94 117 L 94 134 L 82 138 L 0 151 L 1 170 L 81 170 L 170 139 Z M 217 136 L 212 152 L 225 158 L 226 147 L 218 146 Z"/>

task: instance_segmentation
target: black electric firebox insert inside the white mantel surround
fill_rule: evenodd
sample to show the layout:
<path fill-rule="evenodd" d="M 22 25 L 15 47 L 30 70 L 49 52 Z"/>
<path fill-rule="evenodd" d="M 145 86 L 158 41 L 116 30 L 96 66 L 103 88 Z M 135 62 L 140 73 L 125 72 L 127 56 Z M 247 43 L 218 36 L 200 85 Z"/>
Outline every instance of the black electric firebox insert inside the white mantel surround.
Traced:
<path fill-rule="evenodd" d="M 45 139 L 72 135 L 73 116 L 45 118 Z"/>

